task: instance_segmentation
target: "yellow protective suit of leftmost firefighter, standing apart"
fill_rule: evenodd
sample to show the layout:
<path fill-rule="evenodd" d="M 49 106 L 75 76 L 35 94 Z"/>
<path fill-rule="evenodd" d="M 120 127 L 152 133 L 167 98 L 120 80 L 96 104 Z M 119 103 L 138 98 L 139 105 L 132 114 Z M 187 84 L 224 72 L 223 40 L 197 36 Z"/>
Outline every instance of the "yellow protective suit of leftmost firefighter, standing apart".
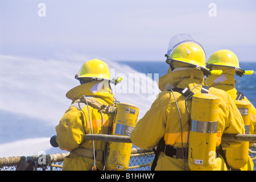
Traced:
<path fill-rule="evenodd" d="M 103 86 L 103 87 L 102 87 Z M 92 98 L 92 100 L 113 106 L 113 94 L 110 93 L 108 86 L 102 85 L 102 81 L 89 82 L 76 86 L 69 90 L 67 98 L 72 100 L 72 105 L 60 119 L 56 126 L 57 143 L 62 150 L 73 151 L 76 148 L 87 148 L 93 150 L 93 141 L 84 140 L 85 134 L 109 134 L 110 125 L 112 125 L 112 113 L 101 113 L 94 107 L 85 104 L 76 104 L 75 101 L 83 96 Z M 88 113 L 89 107 L 89 113 Z M 90 119 L 89 119 L 90 114 Z M 90 122 L 91 121 L 91 122 Z M 94 141 L 96 151 L 104 151 L 106 143 Z M 71 152 L 64 159 L 63 170 L 91 170 L 94 166 L 94 159 L 76 155 Z M 104 168 L 102 160 L 96 160 L 98 170 Z"/>

